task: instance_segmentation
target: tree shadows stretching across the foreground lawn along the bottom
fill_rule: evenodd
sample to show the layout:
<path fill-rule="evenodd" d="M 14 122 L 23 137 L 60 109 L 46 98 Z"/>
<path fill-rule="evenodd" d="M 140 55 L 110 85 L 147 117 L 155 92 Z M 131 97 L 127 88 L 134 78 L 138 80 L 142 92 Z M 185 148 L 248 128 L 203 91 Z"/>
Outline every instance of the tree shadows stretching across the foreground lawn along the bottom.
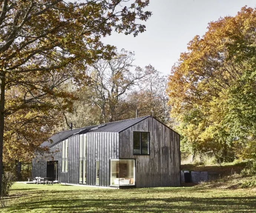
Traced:
<path fill-rule="evenodd" d="M 63 191 L 65 193 L 67 191 Z M 89 194 L 78 197 L 78 191 L 72 191 L 73 197 L 58 198 L 42 196 L 19 205 L 7 207 L 8 211 L 28 212 L 43 209 L 45 212 L 81 213 L 81 212 L 255 212 L 256 196 L 227 197 L 183 197 L 180 194 L 171 198 L 127 198 L 115 196 L 115 192 Z M 85 191 L 83 191 L 85 193 Z M 145 192 L 145 191 L 144 191 Z M 147 193 L 146 193 L 147 194 Z M 121 194 L 120 194 L 121 195 Z M 130 194 L 131 195 L 131 194 Z M 145 194 L 141 194 L 143 196 Z M 148 194 L 147 194 L 148 195 Z M 157 194 L 156 194 L 157 195 Z M 138 196 L 138 194 L 137 194 Z M 185 194 L 184 194 L 185 196 Z"/>

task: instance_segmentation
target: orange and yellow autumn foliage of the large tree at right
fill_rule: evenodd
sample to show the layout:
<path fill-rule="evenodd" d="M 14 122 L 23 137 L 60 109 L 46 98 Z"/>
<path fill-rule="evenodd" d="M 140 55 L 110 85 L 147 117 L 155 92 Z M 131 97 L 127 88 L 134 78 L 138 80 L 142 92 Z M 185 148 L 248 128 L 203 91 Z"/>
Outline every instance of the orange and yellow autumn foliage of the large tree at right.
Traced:
<path fill-rule="evenodd" d="M 167 92 L 172 115 L 181 122 L 186 140 L 196 147 L 198 144 L 202 150 L 220 152 L 221 144 L 229 142 L 232 145 L 232 140 L 243 137 L 233 132 L 232 138 L 230 128 L 235 125 L 232 122 L 237 122 L 244 112 L 248 112 L 250 106 L 247 106 L 248 101 L 244 101 L 243 106 L 242 103 L 232 105 L 234 102 L 229 101 L 230 88 L 235 85 L 245 87 L 243 74 L 246 70 L 255 70 L 255 29 L 256 10 L 247 7 L 236 17 L 211 22 L 202 38 L 195 36 L 190 41 L 188 52 L 181 53 L 171 70 Z M 246 94 L 239 93 L 238 96 L 241 98 Z M 242 109 L 237 120 L 224 123 L 228 113 L 233 116 L 235 110 L 241 111 L 237 107 Z M 251 112 L 248 113 L 250 118 L 253 117 Z M 250 121 L 246 119 L 244 125 L 248 123 Z M 240 123 L 236 123 L 236 128 L 243 131 Z M 232 152 L 231 149 L 229 151 Z"/>

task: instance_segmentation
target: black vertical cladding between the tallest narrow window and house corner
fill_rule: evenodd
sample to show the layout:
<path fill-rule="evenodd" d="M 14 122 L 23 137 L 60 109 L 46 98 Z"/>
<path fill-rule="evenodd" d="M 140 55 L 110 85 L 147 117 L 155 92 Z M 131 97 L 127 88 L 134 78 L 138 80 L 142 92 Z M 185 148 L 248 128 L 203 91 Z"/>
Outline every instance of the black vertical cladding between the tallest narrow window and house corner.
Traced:
<path fill-rule="evenodd" d="M 95 185 L 95 160 L 99 160 L 99 186 L 109 186 L 109 159 L 119 157 L 118 133 L 87 133 L 86 185 Z"/>

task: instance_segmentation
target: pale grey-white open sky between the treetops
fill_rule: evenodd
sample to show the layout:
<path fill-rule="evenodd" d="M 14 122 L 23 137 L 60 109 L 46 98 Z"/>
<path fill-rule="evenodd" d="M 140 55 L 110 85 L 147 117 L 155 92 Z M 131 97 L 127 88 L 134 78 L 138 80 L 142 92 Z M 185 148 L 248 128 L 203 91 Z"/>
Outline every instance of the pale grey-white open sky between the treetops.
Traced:
<path fill-rule="evenodd" d="M 137 37 L 113 32 L 102 39 L 121 50 L 135 52 L 135 64 L 151 64 L 168 75 L 194 36 L 202 36 L 210 21 L 235 16 L 243 6 L 256 7 L 255 0 L 150 0 L 152 16 L 146 30 Z"/>

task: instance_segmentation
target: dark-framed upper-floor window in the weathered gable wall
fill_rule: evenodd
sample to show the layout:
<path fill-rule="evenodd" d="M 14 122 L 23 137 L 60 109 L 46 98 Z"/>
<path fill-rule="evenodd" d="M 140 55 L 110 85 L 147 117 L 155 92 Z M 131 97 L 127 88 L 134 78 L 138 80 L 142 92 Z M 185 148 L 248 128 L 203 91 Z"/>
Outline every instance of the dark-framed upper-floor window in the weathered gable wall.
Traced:
<path fill-rule="evenodd" d="M 149 132 L 133 132 L 133 154 L 150 154 Z"/>

